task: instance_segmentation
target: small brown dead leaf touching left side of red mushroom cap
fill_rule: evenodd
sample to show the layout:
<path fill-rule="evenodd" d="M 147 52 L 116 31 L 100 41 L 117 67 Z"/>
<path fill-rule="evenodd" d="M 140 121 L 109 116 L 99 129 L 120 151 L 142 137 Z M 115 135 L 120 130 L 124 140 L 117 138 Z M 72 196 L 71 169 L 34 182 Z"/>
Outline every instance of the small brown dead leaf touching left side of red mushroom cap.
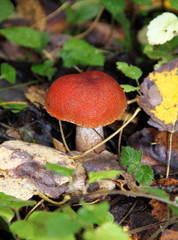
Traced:
<path fill-rule="evenodd" d="M 40 103 L 41 105 L 44 106 L 45 103 L 45 93 L 46 91 L 44 90 L 43 86 L 30 86 L 26 93 L 25 96 L 26 98 L 31 102 L 31 103 Z"/>

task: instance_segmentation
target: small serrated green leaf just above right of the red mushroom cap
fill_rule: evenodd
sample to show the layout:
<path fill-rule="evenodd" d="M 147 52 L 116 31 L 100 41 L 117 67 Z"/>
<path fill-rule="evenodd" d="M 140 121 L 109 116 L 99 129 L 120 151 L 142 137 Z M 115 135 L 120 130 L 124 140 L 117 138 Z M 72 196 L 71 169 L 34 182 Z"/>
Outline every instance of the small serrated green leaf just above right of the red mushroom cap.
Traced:
<path fill-rule="evenodd" d="M 122 71 L 127 77 L 131 79 L 138 80 L 142 75 L 141 69 L 136 66 L 128 65 L 125 62 L 117 62 L 116 65 L 117 69 Z"/>

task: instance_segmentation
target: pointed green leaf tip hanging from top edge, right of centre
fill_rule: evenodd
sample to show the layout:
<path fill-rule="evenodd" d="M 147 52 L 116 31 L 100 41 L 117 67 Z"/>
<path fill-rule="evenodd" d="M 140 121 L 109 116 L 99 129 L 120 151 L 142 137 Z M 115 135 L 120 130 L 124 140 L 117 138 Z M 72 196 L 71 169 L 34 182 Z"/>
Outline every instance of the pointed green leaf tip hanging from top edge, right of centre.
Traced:
<path fill-rule="evenodd" d="M 125 0 L 101 0 L 101 4 L 113 15 L 122 12 L 126 6 Z"/>

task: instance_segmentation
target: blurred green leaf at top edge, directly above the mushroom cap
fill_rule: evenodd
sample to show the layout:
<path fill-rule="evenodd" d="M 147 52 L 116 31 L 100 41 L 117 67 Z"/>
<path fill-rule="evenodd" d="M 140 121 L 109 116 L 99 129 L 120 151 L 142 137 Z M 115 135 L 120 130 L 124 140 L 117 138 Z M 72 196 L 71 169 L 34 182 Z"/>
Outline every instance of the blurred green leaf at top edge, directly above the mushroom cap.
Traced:
<path fill-rule="evenodd" d="M 68 7 L 66 9 L 66 16 L 67 16 L 67 21 L 72 23 L 72 24 L 76 24 L 79 22 L 84 22 L 87 21 L 89 19 L 94 18 L 95 16 L 97 16 L 99 10 L 100 10 L 100 5 L 95 3 L 85 3 L 86 1 L 76 1 L 76 4 L 74 4 L 72 7 Z M 77 3 L 81 3 L 78 7 Z"/>

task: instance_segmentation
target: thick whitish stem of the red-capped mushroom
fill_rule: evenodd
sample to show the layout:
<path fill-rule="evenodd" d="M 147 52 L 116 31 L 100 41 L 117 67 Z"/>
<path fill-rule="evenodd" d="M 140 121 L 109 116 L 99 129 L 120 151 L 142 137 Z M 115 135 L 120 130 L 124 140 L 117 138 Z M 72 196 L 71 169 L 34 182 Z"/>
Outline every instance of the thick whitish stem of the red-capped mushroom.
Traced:
<path fill-rule="evenodd" d="M 76 128 L 76 149 L 77 151 L 84 152 L 104 139 L 103 127 L 86 128 L 77 126 Z M 93 153 L 100 153 L 105 149 L 105 145 L 95 149 Z"/>

